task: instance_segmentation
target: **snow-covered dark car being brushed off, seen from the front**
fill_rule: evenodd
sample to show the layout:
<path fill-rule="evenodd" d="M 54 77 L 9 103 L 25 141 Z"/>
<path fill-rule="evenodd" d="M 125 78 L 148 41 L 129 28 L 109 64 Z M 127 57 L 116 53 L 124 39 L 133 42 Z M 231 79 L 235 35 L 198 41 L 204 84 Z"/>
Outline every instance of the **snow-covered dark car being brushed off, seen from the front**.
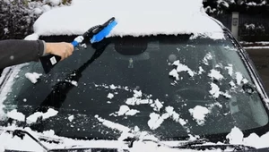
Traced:
<path fill-rule="evenodd" d="M 202 2 L 75 2 L 42 14 L 28 38 L 72 42 L 110 17 L 117 26 L 48 74 L 41 63 L 4 69 L 5 149 L 269 150 L 262 80 Z"/>

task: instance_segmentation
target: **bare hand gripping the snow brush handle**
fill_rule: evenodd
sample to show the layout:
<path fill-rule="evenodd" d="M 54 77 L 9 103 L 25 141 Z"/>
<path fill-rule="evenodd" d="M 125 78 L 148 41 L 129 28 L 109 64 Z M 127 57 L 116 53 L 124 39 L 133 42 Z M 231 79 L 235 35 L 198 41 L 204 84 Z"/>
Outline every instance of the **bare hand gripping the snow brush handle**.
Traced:
<path fill-rule="evenodd" d="M 46 43 L 46 54 L 61 56 L 61 61 L 72 55 L 74 46 L 71 43 Z"/>

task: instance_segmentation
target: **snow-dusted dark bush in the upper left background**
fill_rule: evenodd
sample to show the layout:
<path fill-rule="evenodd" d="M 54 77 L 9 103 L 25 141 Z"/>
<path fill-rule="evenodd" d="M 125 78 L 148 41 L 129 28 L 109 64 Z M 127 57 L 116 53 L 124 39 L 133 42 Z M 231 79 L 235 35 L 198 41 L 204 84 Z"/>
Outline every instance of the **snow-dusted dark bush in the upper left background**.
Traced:
<path fill-rule="evenodd" d="M 0 0 L 0 39 L 25 38 L 39 15 L 71 0 Z"/>

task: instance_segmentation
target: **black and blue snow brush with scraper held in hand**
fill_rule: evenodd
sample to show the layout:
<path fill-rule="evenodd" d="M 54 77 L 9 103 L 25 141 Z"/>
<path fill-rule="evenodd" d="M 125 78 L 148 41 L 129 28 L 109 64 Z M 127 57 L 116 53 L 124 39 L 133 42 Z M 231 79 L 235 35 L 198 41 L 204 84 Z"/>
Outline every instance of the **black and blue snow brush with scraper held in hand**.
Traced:
<path fill-rule="evenodd" d="M 97 25 L 92 27 L 90 30 L 87 30 L 82 36 L 78 36 L 74 38 L 74 41 L 71 42 L 71 44 L 74 47 L 79 46 L 79 44 L 82 44 L 83 40 L 85 38 L 90 38 L 91 44 L 100 42 L 103 38 L 106 38 L 110 31 L 117 25 L 117 21 L 114 17 L 103 23 L 102 25 Z M 61 56 L 58 55 L 46 55 L 43 57 L 40 57 L 40 62 L 42 64 L 42 67 L 44 69 L 44 72 L 47 74 L 51 71 L 51 69 L 61 61 Z"/>

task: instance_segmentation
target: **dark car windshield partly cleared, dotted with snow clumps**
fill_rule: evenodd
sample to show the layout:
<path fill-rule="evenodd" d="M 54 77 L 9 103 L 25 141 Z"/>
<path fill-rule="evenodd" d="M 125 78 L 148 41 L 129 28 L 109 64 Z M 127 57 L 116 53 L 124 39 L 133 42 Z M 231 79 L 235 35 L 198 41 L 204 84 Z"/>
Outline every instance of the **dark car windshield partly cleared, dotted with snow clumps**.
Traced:
<path fill-rule="evenodd" d="M 4 111 L 17 109 L 29 118 L 52 108 L 56 115 L 23 125 L 59 136 L 120 136 L 97 118 L 160 139 L 228 133 L 234 126 L 246 131 L 268 122 L 239 49 L 228 37 L 106 38 L 75 51 L 35 84 L 27 72 L 43 73 L 41 63 L 22 67 Z"/>

